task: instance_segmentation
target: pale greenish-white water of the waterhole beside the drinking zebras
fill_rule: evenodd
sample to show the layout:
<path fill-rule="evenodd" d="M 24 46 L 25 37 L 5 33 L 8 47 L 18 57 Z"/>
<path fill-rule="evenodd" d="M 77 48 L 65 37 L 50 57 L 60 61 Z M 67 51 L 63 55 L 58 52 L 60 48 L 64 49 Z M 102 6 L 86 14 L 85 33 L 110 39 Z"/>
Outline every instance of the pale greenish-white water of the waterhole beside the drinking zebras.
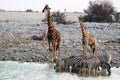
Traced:
<path fill-rule="evenodd" d="M 71 73 L 56 73 L 47 63 L 0 61 L 0 80 L 120 80 L 120 69 L 112 68 L 111 76 L 81 77 Z"/>

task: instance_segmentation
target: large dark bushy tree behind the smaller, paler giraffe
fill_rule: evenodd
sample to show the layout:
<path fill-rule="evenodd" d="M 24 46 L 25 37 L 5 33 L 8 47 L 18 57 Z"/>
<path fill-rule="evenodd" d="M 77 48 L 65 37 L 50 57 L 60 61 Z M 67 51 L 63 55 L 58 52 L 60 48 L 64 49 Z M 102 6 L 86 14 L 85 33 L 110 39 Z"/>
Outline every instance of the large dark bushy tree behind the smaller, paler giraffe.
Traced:
<path fill-rule="evenodd" d="M 89 2 L 88 9 L 84 10 L 84 12 L 88 14 L 85 18 L 90 17 L 92 21 L 109 22 L 110 15 L 116 11 L 109 0 L 95 0 Z"/>

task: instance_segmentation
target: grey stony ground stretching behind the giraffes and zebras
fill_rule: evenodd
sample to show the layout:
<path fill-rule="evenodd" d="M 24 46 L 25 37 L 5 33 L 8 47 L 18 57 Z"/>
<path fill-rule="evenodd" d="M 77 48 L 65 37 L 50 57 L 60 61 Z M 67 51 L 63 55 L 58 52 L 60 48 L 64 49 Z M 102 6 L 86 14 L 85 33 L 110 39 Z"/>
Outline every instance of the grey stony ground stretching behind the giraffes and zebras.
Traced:
<path fill-rule="evenodd" d="M 41 22 L 42 15 L 38 15 L 39 13 L 22 13 L 22 15 L 14 13 L 10 17 L 8 14 L 4 13 L 5 16 L 3 14 L 0 16 L 0 60 L 47 62 L 47 40 L 33 40 L 32 38 L 32 36 L 41 37 L 44 31 L 47 32 L 47 24 Z M 59 56 L 65 58 L 82 54 L 82 32 L 79 22 L 67 25 L 54 22 L 54 25 L 62 37 Z M 119 67 L 120 23 L 85 22 L 85 26 L 88 32 L 97 39 L 99 55 L 111 54 L 112 65 Z M 89 49 L 88 55 L 91 54 Z"/>

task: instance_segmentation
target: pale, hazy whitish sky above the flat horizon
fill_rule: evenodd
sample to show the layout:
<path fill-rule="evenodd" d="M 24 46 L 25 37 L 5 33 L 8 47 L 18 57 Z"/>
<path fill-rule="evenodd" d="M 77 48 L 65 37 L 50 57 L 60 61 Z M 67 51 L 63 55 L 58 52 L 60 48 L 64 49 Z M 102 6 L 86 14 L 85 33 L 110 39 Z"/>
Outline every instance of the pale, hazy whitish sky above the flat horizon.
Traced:
<path fill-rule="evenodd" d="M 51 11 L 84 12 L 88 8 L 89 1 L 94 0 L 0 0 L 0 9 L 11 11 L 42 11 L 45 4 L 51 7 Z M 120 0 L 111 0 L 114 7 L 120 12 Z"/>

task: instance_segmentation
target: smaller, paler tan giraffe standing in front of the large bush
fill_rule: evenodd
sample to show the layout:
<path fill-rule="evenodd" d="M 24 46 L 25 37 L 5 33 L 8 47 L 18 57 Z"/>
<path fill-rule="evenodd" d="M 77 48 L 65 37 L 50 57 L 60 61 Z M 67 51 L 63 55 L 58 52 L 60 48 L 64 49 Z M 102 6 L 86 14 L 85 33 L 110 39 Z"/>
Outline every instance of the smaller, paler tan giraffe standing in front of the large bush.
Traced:
<path fill-rule="evenodd" d="M 82 16 L 79 17 L 79 23 L 80 27 L 82 29 L 82 44 L 83 44 L 83 54 L 87 54 L 87 49 L 88 46 L 92 49 L 93 51 L 93 56 L 97 55 L 97 46 L 96 46 L 96 39 L 93 35 L 89 34 L 88 31 L 86 30 L 86 27 L 83 23 L 83 18 Z"/>

